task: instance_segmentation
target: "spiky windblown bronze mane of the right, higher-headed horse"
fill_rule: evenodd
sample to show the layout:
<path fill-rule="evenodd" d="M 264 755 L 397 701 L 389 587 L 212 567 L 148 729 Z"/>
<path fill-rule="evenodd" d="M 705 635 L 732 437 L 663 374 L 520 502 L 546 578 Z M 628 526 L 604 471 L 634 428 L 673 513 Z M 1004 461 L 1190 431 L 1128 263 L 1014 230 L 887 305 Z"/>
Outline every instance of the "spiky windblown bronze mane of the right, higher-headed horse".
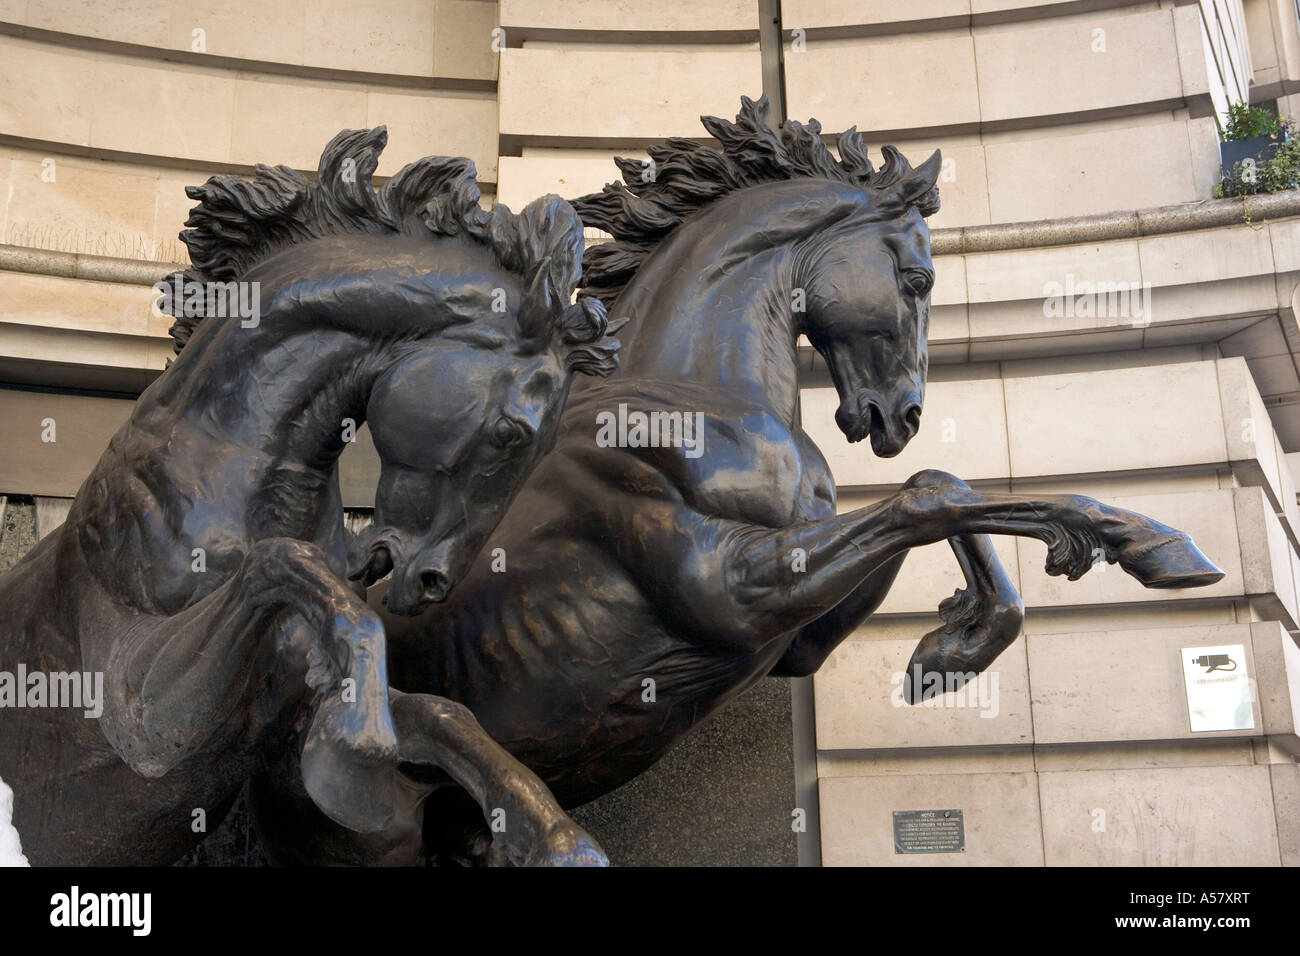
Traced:
<path fill-rule="evenodd" d="M 920 195 L 898 194 L 914 170 L 894 147 L 880 147 L 885 163 L 876 170 L 855 126 L 837 137 L 837 160 L 822 140 L 816 120 L 785 120 L 779 130 L 772 130 L 770 120 L 766 94 L 757 101 L 741 96 L 736 122 L 699 117 L 722 150 L 673 137 L 649 148 L 653 166 L 644 160 L 615 157 L 624 182 L 571 200 L 585 225 L 614 235 L 612 242 L 586 250 L 582 295 L 612 306 L 641 264 L 688 216 L 763 182 L 831 179 L 857 186 L 876 204 L 892 198 L 915 206 L 922 216 L 939 212 L 937 186 Z"/>

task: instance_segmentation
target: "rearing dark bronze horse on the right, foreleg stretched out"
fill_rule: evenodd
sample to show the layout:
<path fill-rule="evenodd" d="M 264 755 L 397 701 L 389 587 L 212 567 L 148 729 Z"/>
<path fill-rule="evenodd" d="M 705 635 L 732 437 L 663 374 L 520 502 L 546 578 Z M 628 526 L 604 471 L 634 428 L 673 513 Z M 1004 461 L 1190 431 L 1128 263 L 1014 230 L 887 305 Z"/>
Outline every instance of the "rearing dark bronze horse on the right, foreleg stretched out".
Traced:
<path fill-rule="evenodd" d="M 627 187 L 575 202 L 615 237 L 588 251 L 584 294 L 627 320 L 624 352 L 608 378 L 575 388 L 555 450 L 489 540 L 506 567 L 481 557 L 446 605 L 386 618 L 394 685 L 468 706 L 566 806 L 630 780 L 759 678 L 811 674 L 911 548 L 949 538 L 968 581 L 918 648 L 926 672 L 980 670 L 1019 633 L 989 533 L 1046 541 L 1048 571 L 1071 579 L 1096 549 L 1148 587 L 1222 576 L 1141 515 L 984 494 L 935 471 L 837 515 L 800 427 L 796 342 L 824 356 L 848 440 L 901 451 L 924 401 L 939 153 L 913 169 L 887 146 L 878 170 L 849 130 L 836 159 L 815 122 L 770 129 L 766 99 L 745 99 L 734 124 L 703 122 L 720 151 L 668 140 L 650 148 L 654 176 L 620 160 Z M 701 415 L 702 453 L 644 420 L 624 446 L 598 441 L 602 421 L 632 412 Z M 298 860 L 415 860 L 421 839 L 482 853 L 481 814 L 454 783 L 411 792 L 384 834 L 317 814 L 315 830 L 264 835 Z M 257 805 L 274 823 L 300 801 L 263 780 Z"/>

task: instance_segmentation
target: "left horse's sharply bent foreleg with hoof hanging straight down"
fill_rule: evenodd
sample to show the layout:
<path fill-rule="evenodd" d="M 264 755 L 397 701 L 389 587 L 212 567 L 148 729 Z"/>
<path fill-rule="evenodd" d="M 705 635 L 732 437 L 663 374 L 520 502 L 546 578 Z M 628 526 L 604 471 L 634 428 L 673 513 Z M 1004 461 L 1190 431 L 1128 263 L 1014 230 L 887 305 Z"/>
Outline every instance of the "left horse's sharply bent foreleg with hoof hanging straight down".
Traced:
<path fill-rule="evenodd" d="M 381 770 L 396 757 L 396 736 L 384 627 L 315 545 L 256 542 L 222 587 L 130 630 L 100 662 L 104 732 L 135 771 L 161 777 L 185 763 L 203 773 L 202 761 L 233 747 L 265 753 L 315 704 L 303 749 L 312 800 L 355 830 L 386 822 L 391 774 Z"/>

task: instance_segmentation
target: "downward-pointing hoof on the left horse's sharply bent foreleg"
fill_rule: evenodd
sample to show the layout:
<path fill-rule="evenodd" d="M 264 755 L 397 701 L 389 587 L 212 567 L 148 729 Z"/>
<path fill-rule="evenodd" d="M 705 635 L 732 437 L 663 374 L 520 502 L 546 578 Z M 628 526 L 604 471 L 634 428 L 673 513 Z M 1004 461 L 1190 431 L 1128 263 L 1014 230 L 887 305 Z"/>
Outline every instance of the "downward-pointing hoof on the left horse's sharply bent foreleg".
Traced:
<path fill-rule="evenodd" d="M 321 813 L 361 834 L 393 822 L 396 803 L 396 740 L 391 748 L 346 743 L 321 706 L 303 744 L 303 787 Z"/>

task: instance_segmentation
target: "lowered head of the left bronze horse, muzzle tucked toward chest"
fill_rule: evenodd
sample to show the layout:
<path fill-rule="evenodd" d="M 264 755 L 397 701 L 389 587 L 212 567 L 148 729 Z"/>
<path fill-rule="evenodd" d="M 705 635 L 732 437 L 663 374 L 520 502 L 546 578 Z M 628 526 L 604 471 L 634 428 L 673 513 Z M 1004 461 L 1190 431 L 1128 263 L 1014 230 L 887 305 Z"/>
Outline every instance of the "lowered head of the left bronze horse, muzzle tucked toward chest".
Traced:
<path fill-rule="evenodd" d="M 446 598 L 554 445 L 572 372 L 602 365 L 573 346 L 603 334 L 604 308 L 568 304 L 571 290 L 543 265 L 514 313 L 448 329 L 377 380 L 367 416 L 382 471 L 350 576 L 391 571 L 390 611 Z"/>

